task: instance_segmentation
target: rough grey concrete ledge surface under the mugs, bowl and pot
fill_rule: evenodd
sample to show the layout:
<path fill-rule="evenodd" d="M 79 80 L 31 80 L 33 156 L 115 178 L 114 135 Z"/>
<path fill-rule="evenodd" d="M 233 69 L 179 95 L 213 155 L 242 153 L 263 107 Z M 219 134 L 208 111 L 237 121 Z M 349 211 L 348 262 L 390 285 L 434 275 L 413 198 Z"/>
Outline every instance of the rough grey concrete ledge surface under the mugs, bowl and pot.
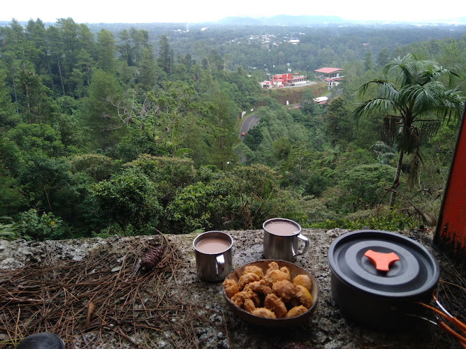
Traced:
<path fill-rule="evenodd" d="M 327 251 L 333 239 L 347 230 L 303 229 L 310 239 L 307 253 L 296 260 L 296 265 L 314 275 L 319 283 L 319 304 L 312 318 L 302 327 L 279 331 L 249 325 L 235 318 L 221 292 L 221 283 L 205 283 L 196 276 L 196 262 L 192 242 L 196 235 L 166 235 L 185 262 L 177 282 L 189 285 L 191 302 L 201 304 L 204 309 L 213 309 L 212 326 L 205 326 L 198 334 L 199 348 L 456 348 L 448 338 L 428 322 L 420 322 L 416 328 L 405 332 L 383 333 L 361 327 L 344 318 L 333 302 L 330 292 L 330 269 Z M 262 255 L 262 230 L 229 231 L 234 239 L 233 267 L 240 267 L 254 260 L 264 259 Z M 21 269 L 31 262 L 45 260 L 81 260 L 96 248 L 121 248 L 131 243 L 150 242 L 160 238 L 157 235 L 143 237 L 112 237 L 109 239 L 74 239 L 48 242 L 7 242 L 0 240 L 0 282 L 1 270 Z M 426 241 L 430 241 L 429 239 Z M 106 246 L 106 247 L 105 247 Z M 429 248 L 429 247 L 428 247 Z M 435 251 L 433 251 L 435 253 Z M 442 255 L 435 253 L 442 265 Z M 442 277 L 442 276 L 441 276 Z M 147 336 L 147 334 L 145 334 Z M 138 334 L 135 334 L 137 337 Z M 443 341 L 446 342 L 442 342 Z M 77 340 L 78 341 L 78 340 Z M 109 339 L 110 341 L 110 339 Z M 157 348 L 172 348 L 170 344 L 154 339 Z M 115 345 L 115 344 L 114 344 Z M 1 346 L 0 346 L 1 348 Z M 81 348 L 78 343 L 75 348 Z M 94 348 L 94 347 L 92 347 Z M 96 347 L 97 348 L 97 347 Z M 99 347 L 100 348 L 100 347 Z M 115 348 L 112 345 L 112 348 Z M 135 348 L 120 346 L 117 348 Z M 145 348 L 145 347 L 144 347 Z M 459 346 L 458 346 L 459 348 Z"/>

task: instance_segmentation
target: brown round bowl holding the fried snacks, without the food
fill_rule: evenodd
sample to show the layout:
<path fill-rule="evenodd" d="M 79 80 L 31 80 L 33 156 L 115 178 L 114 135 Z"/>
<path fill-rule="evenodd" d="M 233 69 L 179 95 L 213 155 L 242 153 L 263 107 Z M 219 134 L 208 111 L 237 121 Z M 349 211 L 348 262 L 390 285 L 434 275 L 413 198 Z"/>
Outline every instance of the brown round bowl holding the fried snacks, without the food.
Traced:
<path fill-rule="evenodd" d="M 226 299 L 226 303 L 228 306 L 230 306 L 231 311 L 235 315 L 238 316 L 238 318 L 241 318 L 242 320 L 245 320 L 246 322 L 252 323 L 254 325 L 259 325 L 263 327 L 295 327 L 299 325 L 303 325 L 304 322 L 306 322 L 311 315 L 314 313 L 314 310 L 316 309 L 317 301 L 319 299 L 319 286 L 317 285 L 316 279 L 314 279 L 314 276 L 312 276 L 310 273 L 306 272 L 305 269 L 302 269 L 296 265 L 294 265 L 291 262 L 286 262 L 285 260 L 259 260 L 256 262 L 251 262 L 248 263 L 247 265 L 243 265 L 242 267 L 239 267 L 238 269 L 233 270 L 231 274 L 226 276 L 226 279 L 231 279 L 234 280 L 235 282 L 238 283 L 238 280 L 240 279 L 240 276 L 248 265 L 255 265 L 256 267 L 260 267 L 263 270 L 263 273 L 268 269 L 268 265 L 270 262 L 277 262 L 279 267 L 287 267 L 290 272 L 291 280 L 293 280 L 296 276 L 300 274 L 305 274 L 310 277 L 311 279 L 311 295 L 312 295 L 312 306 L 310 306 L 305 313 L 302 313 L 301 315 L 298 315 L 294 318 L 278 318 L 278 319 L 272 319 L 272 318 L 263 318 L 261 316 L 256 316 L 253 315 L 252 313 L 249 313 L 245 311 L 245 309 L 240 308 L 236 304 L 234 304 L 230 298 L 228 298 L 228 295 L 226 295 L 225 288 L 222 287 L 222 292 L 224 294 L 224 297 Z"/>

